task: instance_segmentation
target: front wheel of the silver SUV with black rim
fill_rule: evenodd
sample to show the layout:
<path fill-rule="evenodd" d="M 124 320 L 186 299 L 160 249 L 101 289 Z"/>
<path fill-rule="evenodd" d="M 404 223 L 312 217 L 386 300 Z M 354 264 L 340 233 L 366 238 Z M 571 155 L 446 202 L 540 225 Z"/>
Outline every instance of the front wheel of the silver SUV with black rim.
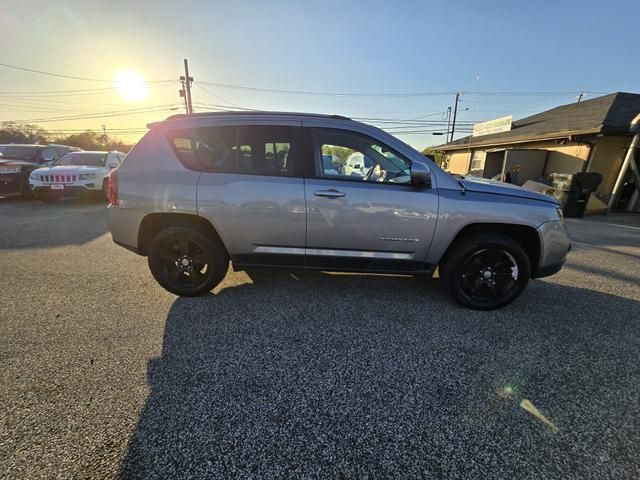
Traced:
<path fill-rule="evenodd" d="M 513 302 L 524 291 L 531 277 L 531 262 L 522 246 L 510 237 L 479 233 L 451 246 L 440 264 L 440 276 L 461 305 L 494 310 Z"/>

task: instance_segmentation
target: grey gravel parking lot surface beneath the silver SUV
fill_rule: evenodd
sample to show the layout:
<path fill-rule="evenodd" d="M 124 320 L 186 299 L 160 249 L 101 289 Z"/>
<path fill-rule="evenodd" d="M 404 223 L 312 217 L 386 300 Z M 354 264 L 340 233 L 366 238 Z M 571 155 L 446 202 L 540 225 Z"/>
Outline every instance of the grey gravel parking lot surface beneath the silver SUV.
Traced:
<path fill-rule="evenodd" d="M 0 200 L 2 478 L 640 477 L 638 217 L 474 312 L 376 275 L 177 299 L 105 210 Z"/>

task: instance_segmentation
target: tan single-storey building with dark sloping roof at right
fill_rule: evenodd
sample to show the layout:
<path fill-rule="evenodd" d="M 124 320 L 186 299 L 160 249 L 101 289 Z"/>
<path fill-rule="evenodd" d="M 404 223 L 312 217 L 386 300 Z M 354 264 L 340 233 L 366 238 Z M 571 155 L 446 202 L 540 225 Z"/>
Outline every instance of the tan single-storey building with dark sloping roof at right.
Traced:
<path fill-rule="evenodd" d="M 505 124 L 506 123 L 506 124 Z M 451 173 L 518 185 L 553 173 L 597 172 L 587 213 L 640 211 L 640 94 L 612 93 L 510 121 L 436 147 Z"/>

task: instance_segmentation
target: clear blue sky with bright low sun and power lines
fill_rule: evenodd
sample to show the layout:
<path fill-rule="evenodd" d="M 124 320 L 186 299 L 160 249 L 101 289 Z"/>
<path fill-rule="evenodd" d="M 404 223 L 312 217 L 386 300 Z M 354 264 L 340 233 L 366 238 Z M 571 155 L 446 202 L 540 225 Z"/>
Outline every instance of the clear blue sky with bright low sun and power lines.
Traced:
<path fill-rule="evenodd" d="M 456 138 L 580 92 L 640 92 L 639 14 L 637 0 L 3 0 L 0 63 L 84 79 L 0 66 L 0 122 L 104 125 L 133 142 L 184 111 L 177 79 L 188 58 L 196 111 L 341 114 L 422 148 L 444 142 L 433 133 L 446 131 L 458 91 Z M 144 78 L 146 98 L 118 93 L 121 71 Z"/>

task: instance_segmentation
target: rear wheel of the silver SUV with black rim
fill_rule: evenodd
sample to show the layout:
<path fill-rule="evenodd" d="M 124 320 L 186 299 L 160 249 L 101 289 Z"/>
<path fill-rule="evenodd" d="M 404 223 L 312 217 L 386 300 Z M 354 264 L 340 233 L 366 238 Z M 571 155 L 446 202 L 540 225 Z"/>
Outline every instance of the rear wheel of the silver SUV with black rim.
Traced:
<path fill-rule="evenodd" d="M 149 269 L 156 281 L 181 297 L 210 292 L 229 268 L 224 247 L 193 227 L 177 226 L 161 230 L 151 240 Z M 182 262 L 188 262 L 183 265 Z"/>

